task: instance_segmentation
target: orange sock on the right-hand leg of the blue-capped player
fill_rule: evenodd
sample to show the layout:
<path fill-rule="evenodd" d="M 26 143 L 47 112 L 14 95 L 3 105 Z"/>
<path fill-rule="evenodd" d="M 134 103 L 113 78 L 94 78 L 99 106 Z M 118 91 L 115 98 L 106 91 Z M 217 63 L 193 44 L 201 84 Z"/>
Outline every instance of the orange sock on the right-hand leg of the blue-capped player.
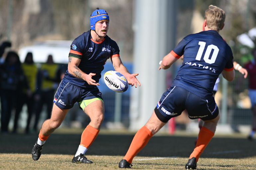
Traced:
<path fill-rule="evenodd" d="M 81 135 L 81 142 L 80 145 L 86 147 L 87 149 L 90 147 L 90 145 L 93 143 L 93 141 L 96 139 L 96 137 L 99 134 L 99 130 L 96 128 L 93 128 L 92 126 L 88 125 L 82 135 Z"/>

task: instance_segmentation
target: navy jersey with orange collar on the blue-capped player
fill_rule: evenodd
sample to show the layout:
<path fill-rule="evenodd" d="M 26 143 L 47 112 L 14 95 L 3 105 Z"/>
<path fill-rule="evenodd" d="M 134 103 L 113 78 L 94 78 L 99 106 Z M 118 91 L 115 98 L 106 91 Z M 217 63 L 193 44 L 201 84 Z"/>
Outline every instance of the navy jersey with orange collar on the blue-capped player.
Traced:
<path fill-rule="evenodd" d="M 91 38 L 90 31 L 84 32 L 74 39 L 68 56 L 81 59 L 78 68 L 86 74 L 95 73 L 96 75 L 92 79 L 96 83 L 99 82 L 100 73 L 104 69 L 107 59 L 120 57 L 118 45 L 114 40 L 106 35 L 101 42 L 96 42 Z M 66 70 L 64 79 L 79 87 L 95 86 L 88 85 L 86 81 L 72 76 L 68 70 Z"/>

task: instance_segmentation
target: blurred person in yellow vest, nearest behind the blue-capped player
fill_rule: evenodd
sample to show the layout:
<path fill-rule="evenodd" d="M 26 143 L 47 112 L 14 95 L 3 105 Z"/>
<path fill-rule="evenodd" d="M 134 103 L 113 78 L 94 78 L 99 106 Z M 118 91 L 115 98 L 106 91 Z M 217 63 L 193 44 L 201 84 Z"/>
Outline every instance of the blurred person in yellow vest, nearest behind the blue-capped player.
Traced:
<path fill-rule="evenodd" d="M 57 76 L 59 66 L 54 63 L 53 56 L 49 55 L 47 58 L 47 62 L 42 64 L 40 70 L 40 99 L 36 104 L 36 119 L 34 124 L 34 130 L 37 130 L 38 121 L 40 118 L 40 114 L 42 112 L 44 104 L 47 106 L 47 117 L 49 119 L 51 117 L 52 107 L 53 107 L 53 98 L 55 90 L 58 87 L 58 83 L 60 81 L 60 76 Z"/>

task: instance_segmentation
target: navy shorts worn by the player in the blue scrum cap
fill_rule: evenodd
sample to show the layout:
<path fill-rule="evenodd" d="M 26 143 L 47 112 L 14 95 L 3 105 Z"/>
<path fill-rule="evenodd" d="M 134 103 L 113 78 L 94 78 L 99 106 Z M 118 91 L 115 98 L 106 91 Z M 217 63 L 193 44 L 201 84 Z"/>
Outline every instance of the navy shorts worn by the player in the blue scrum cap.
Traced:
<path fill-rule="evenodd" d="M 61 109 L 70 109 L 75 102 L 92 98 L 102 99 L 101 92 L 97 86 L 81 88 L 63 79 L 54 95 L 54 103 Z"/>

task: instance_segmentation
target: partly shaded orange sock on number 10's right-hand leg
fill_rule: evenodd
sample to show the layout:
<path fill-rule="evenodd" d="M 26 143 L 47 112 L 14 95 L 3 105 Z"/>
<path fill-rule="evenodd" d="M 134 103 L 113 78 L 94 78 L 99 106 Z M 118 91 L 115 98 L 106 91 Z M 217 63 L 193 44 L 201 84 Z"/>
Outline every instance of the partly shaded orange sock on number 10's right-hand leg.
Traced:
<path fill-rule="evenodd" d="M 205 127 L 202 127 L 202 129 L 198 134 L 198 139 L 197 139 L 195 148 L 189 158 L 191 159 L 192 157 L 195 157 L 197 162 L 199 159 L 199 156 L 203 153 L 203 150 L 208 145 L 208 143 L 210 142 L 213 136 L 214 136 L 213 132 L 211 132 L 209 129 Z"/>

